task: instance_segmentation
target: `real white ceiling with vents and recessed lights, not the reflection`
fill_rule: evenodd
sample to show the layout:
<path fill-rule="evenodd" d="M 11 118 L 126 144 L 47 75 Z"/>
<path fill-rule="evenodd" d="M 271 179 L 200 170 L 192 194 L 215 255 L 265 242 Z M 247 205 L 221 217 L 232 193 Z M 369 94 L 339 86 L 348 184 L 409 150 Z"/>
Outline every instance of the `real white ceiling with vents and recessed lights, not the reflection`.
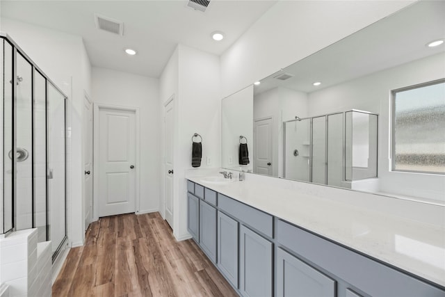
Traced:
<path fill-rule="evenodd" d="M 202 13 L 187 0 L 1 0 L 0 10 L 1 17 L 80 35 L 92 66 L 160 77 L 177 44 L 220 56 L 276 1 L 211 0 Z M 96 29 L 95 13 L 124 22 L 124 35 Z M 213 31 L 225 39 L 212 40 Z M 127 56 L 126 47 L 138 54 Z"/>

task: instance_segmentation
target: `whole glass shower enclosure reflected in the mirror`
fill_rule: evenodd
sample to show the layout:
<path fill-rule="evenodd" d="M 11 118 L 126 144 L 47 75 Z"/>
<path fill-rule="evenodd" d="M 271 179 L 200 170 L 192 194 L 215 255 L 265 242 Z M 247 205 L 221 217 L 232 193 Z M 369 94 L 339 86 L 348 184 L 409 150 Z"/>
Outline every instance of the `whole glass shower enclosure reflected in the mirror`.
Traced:
<path fill-rule="evenodd" d="M 284 177 L 354 188 L 377 177 L 378 115 L 346 111 L 284 122 Z"/>

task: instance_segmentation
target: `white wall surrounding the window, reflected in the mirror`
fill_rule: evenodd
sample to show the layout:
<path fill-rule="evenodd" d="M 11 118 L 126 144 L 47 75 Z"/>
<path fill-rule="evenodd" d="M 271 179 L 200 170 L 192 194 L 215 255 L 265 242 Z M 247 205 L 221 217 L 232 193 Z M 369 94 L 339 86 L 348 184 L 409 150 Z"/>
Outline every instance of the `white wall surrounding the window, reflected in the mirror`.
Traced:
<path fill-rule="evenodd" d="M 443 175 L 391 172 L 389 156 L 391 90 L 443 78 L 444 61 L 445 54 L 436 54 L 310 93 L 309 115 L 348 109 L 378 113 L 380 191 L 445 202 Z"/>

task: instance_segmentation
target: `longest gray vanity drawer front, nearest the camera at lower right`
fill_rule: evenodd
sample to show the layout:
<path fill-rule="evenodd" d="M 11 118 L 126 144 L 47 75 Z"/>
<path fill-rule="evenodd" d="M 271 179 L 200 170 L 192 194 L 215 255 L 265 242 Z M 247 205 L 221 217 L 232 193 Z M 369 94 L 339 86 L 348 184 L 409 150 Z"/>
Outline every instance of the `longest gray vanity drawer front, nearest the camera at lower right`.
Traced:
<path fill-rule="evenodd" d="M 444 296 L 444 291 L 385 264 L 278 220 L 277 241 L 371 296 Z"/>

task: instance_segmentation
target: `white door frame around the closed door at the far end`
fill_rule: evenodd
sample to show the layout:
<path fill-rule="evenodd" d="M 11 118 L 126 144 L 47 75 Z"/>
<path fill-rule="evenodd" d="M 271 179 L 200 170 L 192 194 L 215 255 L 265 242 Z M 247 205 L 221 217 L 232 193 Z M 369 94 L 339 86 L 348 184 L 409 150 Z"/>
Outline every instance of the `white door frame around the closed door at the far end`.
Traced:
<path fill-rule="evenodd" d="M 140 119 L 139 119 L 139 108 L 134 106 L 122 106 L 122 105 L 112 105 L 108 103 L 100 103 L 100 102 L 94 102 L 94 114 L 93 114 L 93 121 L 94 121 L 94 136 L 93 136 L 93 147 L 94 147 L 94 154 L 93 154 L 93 172 L 99 172 L 99 158 L 97 156 L 99 155 L 99 113 L 101 109 L 114 109 L 116 111 L 134 111 L 136 115 L 136 195 L 135 195 L 135 201 L 134 201 L 134 211 L 136 214 L 139 213 L 140 209 Z M 99 175 L 94 175 L 94 197 L 92 199 L 92 219 L 98 220 L 99 219 Z"/>

